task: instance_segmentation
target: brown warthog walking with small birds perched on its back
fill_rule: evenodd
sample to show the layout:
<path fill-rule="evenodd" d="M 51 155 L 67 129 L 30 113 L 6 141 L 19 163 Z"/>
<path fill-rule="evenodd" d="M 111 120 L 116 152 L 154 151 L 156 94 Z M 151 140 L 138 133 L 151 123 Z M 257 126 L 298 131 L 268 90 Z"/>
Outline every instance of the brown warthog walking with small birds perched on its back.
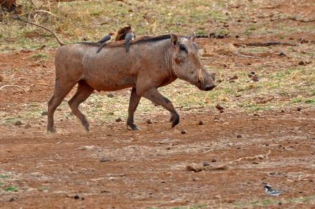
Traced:
<path fill-rule="evenodd" d="M 132 88 L 127 126 L 137 130 L 134 112 L 141 97 L 170 111 L 172 127 L 179 123 L 177 111 L 172 102 L 158 91 L 159 87 L 179 78 L 200 90 L 215 88 L 215 75 L 208 73 L 201 63 L 195 34 L 190 37 L 167 34 L 138 38 L 131 42 L 129 52 L 125 50 L 124 41 L 108 43 L 99 53 L 96 53 L 98 46 L 63 46 L 60 39 L 57 41 L 62 46 L 55 54 L 55 90 L 48 101 L 48 132 L 56 131 L 54 112 L 77 83 L 77 92 L 68 103 L 86 130 L 89 130 L 89 121 L 78 107 L 94 90 Z"/>

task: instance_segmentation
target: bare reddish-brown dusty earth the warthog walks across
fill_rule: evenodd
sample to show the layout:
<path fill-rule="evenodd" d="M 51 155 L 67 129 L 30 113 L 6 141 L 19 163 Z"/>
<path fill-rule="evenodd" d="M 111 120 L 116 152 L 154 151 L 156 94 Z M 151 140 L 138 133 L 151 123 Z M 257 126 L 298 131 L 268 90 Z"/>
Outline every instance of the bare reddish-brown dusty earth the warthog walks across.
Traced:
<path fill-rule="evenodd" d="M 296 12 L 294 7 L 288 11 Z M 312 32 L 297 32 L 281 41 L 298 43 L 301 37 L 315 40 Z M 224 50 L 231 43 L 275 40 L 272 36 L 242 41 L 230 37 L 198 39 L 198 43 L 208 48 L 204 54 L 210 54 L 212 46 Z M 278 51 L 287 48 L 276 47 Z M 38 52 L 51 56 L 45 61 L 30 59 Z M 215 52 L 215 57 L 204 56 L 213 68 L 237 62 L 238 70 L 246 72 L 253 55 Z M 15 84 L 26 90 L 11 86 L 0 91 L 0 116 L 20 115 L 22 122 L 19 126 L 14 125 L 16 120 L 0 123 L 0 208 L 315 208 L 314 106 L 259 113 L 226 108 L 222 114 L 215 108 L 178 108 L 181 123 L 174 129 L 168 112 L 153 110 L 138 117 L 141 131 L 127 130 L 123 118 L 121 122 L 91 121 L 90 132 L 84 132 L 75 117 L 58 117 L 70 111 L 60 108 L 55 113 L 59 132 L 48 134 L 42 106 L 35 117 L 24 119 L 21 112 L 34 110 L 51 97 L 54 53 L 38 49 L 0 54 L 0 76 L 4 77 L 0 86 Z M 265 62 L 294 65 L 297 61 L 284 60 L 276 52 L 251 59 L 253 65 Z M 273 68 L 266 66 L 270 72 Z M 43 85 L 32 86 L 35 83 Z M 117 94 L 129 94 L 129 90 Z M 210 166 L 203 166 L 204 162 Z M 187 166 L 203 170 L 195 172 Z M 287 192 L 267 197 L 263 183 Z"/>

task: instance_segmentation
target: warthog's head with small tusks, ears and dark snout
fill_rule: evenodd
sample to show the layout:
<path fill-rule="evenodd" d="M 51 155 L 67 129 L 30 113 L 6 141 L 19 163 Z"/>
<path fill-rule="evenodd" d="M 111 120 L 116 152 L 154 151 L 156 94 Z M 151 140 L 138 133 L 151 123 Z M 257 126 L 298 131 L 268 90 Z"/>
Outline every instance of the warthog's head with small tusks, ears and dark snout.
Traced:
<path fill-rule="evenodd" d="M 171 34 L 172 70 L 174 74 L 197 86 L 200 90 L 215 88 L 215 74 L 208 73 L 201 63 L 195 33 L 190 37 Z"/>

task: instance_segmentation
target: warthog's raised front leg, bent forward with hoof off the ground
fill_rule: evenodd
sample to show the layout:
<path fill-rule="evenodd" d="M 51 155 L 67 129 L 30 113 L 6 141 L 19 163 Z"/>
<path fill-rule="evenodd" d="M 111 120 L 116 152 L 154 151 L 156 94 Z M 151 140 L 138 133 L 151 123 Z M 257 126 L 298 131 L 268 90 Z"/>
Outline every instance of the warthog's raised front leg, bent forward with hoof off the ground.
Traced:
<path fill-rule="evenodd" d="M 170 111 L 170 122 L 172 122 L 172 128 L 179 123 L 179 115 L 176 112 L 172 101 L 164 97 L 156 88 L 146 90 L 141 96 L 149 99 L 150 101 L 153 101 L 153 103 L 163 106 L 166 110 Z"/>

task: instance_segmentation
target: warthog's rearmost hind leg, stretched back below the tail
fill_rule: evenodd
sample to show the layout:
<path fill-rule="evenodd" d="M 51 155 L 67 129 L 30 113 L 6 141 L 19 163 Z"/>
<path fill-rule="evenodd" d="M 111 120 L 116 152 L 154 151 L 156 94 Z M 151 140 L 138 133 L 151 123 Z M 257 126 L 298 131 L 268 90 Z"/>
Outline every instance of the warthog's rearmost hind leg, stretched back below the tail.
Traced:
<path fill-rule="evenodd" d="M 53 97 L 48 101 L 48 111 L 47 111 L 47 132 L 56 132 L 53 126 L 53 114 L 57 107 L 62 103 L 66 94 L 69 94 L 71 89 L 75 86 L 75 82 L 62 81 L 62 79 L 56 79 L 55 90 L 53 90 Z"/>

